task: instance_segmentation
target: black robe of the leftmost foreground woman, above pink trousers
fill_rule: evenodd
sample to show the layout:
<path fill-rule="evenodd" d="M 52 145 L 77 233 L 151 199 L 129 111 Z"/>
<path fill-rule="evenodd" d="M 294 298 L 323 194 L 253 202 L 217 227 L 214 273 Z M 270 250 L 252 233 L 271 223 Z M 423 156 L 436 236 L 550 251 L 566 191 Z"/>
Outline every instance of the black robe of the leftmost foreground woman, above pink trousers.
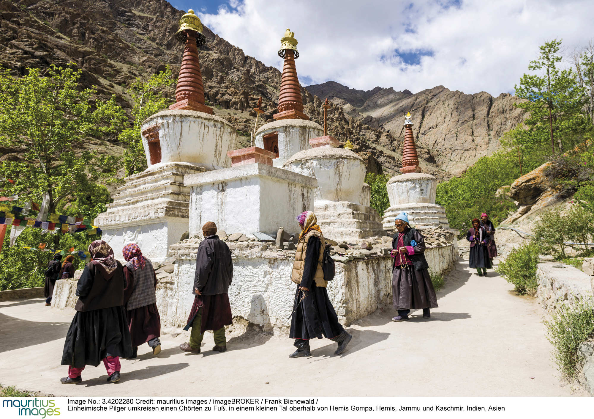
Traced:
<path fill-rule="evenodd" d="M 116 277 L 111 280 L 116 280 Z M 90 292 L 93 281 L 94 276 L 86 267 L 78 280 L 76 295 L 88 295 L 81 293 Z M 124 306 L 76 312 L 64 342 L 62 365 L 75 368 L 83 368 L 85 365 L 96 367 L 105 357 L 131 356 L 132 343 Z"/>

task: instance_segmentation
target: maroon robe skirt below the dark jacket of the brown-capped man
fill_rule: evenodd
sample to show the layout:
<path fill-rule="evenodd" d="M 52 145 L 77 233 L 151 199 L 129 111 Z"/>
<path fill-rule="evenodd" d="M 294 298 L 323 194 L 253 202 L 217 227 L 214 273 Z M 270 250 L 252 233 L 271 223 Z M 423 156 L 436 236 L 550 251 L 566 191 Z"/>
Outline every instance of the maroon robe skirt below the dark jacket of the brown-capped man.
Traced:
<path fill-rule="evenodd" d="M 189 330 L 190 326 L 192 326 L 199 309 L 202 309 L 202 322 L 200 326 L 202 333 L 205 330 L 219 330 L 222 327 L 233 324 L 231 304 L 229 303 L 227 293 L 195 296 L 194 304 L 192 304 L 192 309 L 189 312 L 188 324 L 186 324 L 184 330 Z"/>

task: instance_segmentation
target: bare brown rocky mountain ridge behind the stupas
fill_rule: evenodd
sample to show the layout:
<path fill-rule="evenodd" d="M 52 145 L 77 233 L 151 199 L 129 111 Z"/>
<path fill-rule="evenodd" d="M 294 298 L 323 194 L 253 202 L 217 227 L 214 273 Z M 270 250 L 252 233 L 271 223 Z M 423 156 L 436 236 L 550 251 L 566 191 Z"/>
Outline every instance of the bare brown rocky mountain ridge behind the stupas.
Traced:
<path fill-rule="evenodd" d="M 176 10 L 166 1 L 0 0 L 0 10 L 0 65 L 15 76 L 24 74 L 27 67 L 44 69 L 50 64 L 64 66 L 74 62 L 83 70 L 81 84 L 94 87 L 97 100 L 115 95 L 122 107 L 129 108 L 132 101 L 126 92 L 127 83 L 135 77 L 157 73 L 165 65 L 170 65 L 174 72 L 179 70 L 183 45 L 174 35 L 184 11 Z M 263 98 L 266 111 L 258 126 L 273 120 L 277 112 L 281 73 L 277 68 L 245 55 L 241 48 L 231 45 L 206 26 L 204 36 L 207 42 L 200 48 L 200 62 L 207 104 L 213 107 L 216 115 L 228 120 L 238 130 L 238 146 L 248 146 L 249 133 L 255 123 L 252 108 L 258 98 Z M 299 61 L 297 70 L 299 73 Z M 470 130 L 481 129 L 481 123 L 469 124 L 467 121 L 477 112 L 466 110 L 469 106 L 478 106 L 478 114 L 485 112 L 482 105 L 477 105 L 477 100 L 466 98 L 470 95 L 445 88 L 440 92 L 433 91 L 435 88 L 413 95 L 407 90 L 394 92 L 391 88 L 380 87 L 367 92 L 347 89 L 347 95 L 339 83 L 328 83 L 325 83 L 326 87 L 332 87 L 328 90 L 336 91 L 332 96 L 335 98 L 333 106 L 328 110 L 328 133 L 341 142 L 350 140 L 355 145 L 354 151 L 367 162 L 368 171 L 374 173 L 399 173 L 403 132 L 396 127 L 398 124 L 402 126 L 403 108 L 412 106 L 413 111 L 422 110 L 423 124 L 415 127 L 421 167 L 439 179 L 448 179 L 464 170 L 476 155 L 494 149 L 493 146 L 489 148 L 489 144 L 496 142 L 497 133 L 503 132 L 505 127 L 513 127 L 519 120 L 514 114 L 513 123 L 499 124 L 494 131 L 488 129 L 490 120 L 487 117 L 487 129 L 481 131 L 484 137 L 476 137 L 465 133 L 469 127 Z M 302 88 L 305 113 L 313 121 L 323 124 L 320 98 L 326 96 L 322 92 L 322 96 L 312 94 L 308 91 L 311 89 L 311 86 L 307 90 Z M 494 102 L 489 97 L 485 96 L 483 101 Z M 464 100 L 465 104 L 458 106 L 457 100 Z M 510 111 L 509 104 L 500 102 L 502 105 L 498 106 L 502 110 Z M 457 120 L 451 115 L 441 115 L 448 107 L 460 108 Z M 431 123 L 426 123 L 425 119 Z M 447 121 L 446 127 L 442 126 L 444 121 Z M 427 136 L 426 132 L 434 133 Z M 471 155 L 465 160 L 457 157 L 456 164 L 451 165 L 448 155 L 456 152 L 450 150 L 454 132 L 454 139 L 458 132 L 464 136 L 462 146 L 457 144 L 457 148 Z M 494 139 L 486 133 L 492 134 Z M 473 145 L 475 137 L 481 141 Z M 489 140 L 485 142 L 486 137 Z M 111 154 L 122 152 L 116 138 L 97 141 L 89 147 Z M 0 161 L 7 160 L 7 155 L 11 160 L 20 158 L 18 150 L 2 149 L 0 152 L 3 154 Z"/>

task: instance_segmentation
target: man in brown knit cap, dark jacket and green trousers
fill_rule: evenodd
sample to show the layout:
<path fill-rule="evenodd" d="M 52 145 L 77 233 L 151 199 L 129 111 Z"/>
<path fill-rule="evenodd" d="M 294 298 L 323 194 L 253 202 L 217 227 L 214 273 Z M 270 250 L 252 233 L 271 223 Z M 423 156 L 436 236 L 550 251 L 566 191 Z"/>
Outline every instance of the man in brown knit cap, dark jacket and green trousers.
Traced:
<path fill-rule="evenodd" d="M 212 221 L 202 226 L 204 240 L 198 246 L 196 274 L 192 293 L 194 304 L 184 330 L 192 328 L 189 342 L 179 345 L 185 352 L 200 353 L 200 344 L 205 330 L 214 334 L 213 351 L 225 352 L 225 326 L 233 324 L 231 305 L 227 292 L 233 280 L 231 251 L 216 234 L 217 226 Z"/>

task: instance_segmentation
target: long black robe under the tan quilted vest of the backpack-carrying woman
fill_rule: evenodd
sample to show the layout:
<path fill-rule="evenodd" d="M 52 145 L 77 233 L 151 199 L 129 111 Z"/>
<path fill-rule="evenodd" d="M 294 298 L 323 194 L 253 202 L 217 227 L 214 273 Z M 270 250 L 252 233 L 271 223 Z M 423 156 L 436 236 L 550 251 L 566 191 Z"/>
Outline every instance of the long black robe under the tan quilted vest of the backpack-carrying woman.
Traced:
<path fill-rule="evenodd" d="M 345 330 L 338 321 L 326 288 L 315 285 L 314 277 L 318 268 L 320 246 L 321 240 L 318 237 L 309 237 L 305 252 L 303 278 L 299 285 L 306 287 L 308 291 L 302 291 L 298 286 L 295 292 L 289 332 L 291 339 L 312 339 L 314 337 L 322 339 L 323 336 L 332 339 Z M 302 299 L 304 293 L 307 296 Z"/>

